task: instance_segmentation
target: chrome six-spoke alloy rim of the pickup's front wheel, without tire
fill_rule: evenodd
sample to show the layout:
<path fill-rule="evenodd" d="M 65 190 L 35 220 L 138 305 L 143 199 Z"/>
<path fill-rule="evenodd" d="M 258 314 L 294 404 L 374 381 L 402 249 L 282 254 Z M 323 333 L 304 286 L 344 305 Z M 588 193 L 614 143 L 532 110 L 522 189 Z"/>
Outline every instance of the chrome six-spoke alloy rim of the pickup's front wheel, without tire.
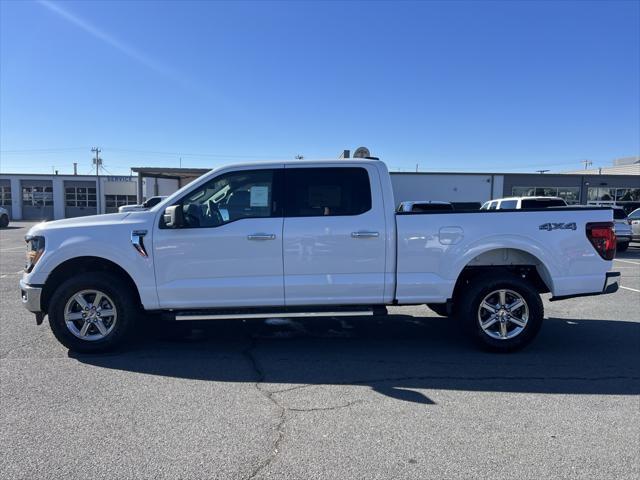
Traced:
<path fill-rule="evenodd" d="M 81 340 L 102 340 L 116 325 L 118 312 L 113 300 L 99 290 L 82 290 L 64 307 L 64 321 Z"/>

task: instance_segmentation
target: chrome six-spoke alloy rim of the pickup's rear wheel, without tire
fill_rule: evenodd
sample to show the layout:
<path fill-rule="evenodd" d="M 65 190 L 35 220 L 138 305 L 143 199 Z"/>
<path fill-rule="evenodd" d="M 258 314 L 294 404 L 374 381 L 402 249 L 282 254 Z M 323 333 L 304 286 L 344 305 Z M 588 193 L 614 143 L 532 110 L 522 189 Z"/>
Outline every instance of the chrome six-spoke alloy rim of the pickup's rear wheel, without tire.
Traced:
<path fill-rule="evenodd" d="M 522 333 L 529 320 L 527 302 L 513 290 L 495 290 L 478 307 L 480 328 L 491 338 L 508 340 Z"/>

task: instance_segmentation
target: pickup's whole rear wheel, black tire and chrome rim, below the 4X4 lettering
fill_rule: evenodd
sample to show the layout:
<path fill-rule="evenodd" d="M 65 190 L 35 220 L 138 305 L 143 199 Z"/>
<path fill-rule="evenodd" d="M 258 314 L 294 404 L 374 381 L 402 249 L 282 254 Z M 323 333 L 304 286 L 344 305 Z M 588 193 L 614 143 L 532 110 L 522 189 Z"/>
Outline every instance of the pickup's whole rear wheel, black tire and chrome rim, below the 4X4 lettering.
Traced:
<path fill-rule="evenodd" d="M 509 352 L 528 345 L 540 331 L 544 307 L 537 290 L 513 275 L 471 282 L 461 294 L 460 318 L 480 345 Z"/>

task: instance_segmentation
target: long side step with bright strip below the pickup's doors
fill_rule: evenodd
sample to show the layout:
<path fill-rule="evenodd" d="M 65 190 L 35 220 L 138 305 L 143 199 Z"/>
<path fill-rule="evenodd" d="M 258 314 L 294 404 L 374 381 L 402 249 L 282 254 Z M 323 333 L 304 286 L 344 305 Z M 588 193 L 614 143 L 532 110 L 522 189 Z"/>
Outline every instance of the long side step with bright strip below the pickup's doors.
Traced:
<path fill-rule="evenodd" d="M 348 306 L 348 307 L 280 307 L 277 309 L 216 309 L 164 311 L 165 320 L 243 320 L 256 318 L 310 318 L 310 317 L 364 317 L 386 315 L 384 306 Z"/>

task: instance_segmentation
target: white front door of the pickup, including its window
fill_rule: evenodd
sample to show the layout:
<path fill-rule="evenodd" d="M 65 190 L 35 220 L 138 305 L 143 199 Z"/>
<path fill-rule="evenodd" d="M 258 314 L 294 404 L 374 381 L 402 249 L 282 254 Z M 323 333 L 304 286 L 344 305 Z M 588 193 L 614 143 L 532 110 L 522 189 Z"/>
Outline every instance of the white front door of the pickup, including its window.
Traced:
<path fill-rule="evenodd" d="M 281 172 L 223 173 L 177 202 L 184 226 L 153 238 L 161 308 L 284 305 Z"/>

